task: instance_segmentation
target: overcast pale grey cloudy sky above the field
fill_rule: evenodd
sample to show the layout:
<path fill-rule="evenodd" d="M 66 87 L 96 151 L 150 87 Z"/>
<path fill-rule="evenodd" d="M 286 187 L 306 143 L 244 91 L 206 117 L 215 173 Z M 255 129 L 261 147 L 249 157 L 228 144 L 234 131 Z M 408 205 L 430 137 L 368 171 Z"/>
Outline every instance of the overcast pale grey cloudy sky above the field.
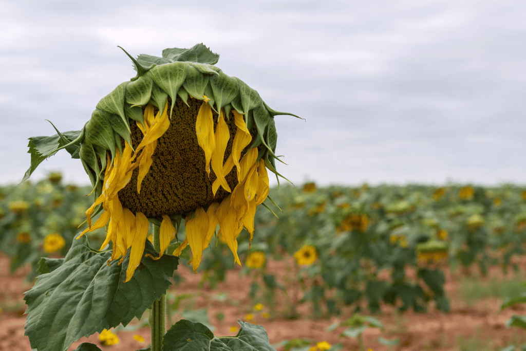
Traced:
<path fill-rule="evenodd" d="M 0 184 L 78 130 L 131 55 L 204 43 L 277 116 L 292 182 L 526 183 L 523 0 L 0 1 Z M 183 3 L 183 2 L 181 2 Z M 190 3 L 190 4 L 189 4 Z M 155 5 L 153 5 L 155 4 Z M 88 183 L 62 152 L 61 170 Z"/>

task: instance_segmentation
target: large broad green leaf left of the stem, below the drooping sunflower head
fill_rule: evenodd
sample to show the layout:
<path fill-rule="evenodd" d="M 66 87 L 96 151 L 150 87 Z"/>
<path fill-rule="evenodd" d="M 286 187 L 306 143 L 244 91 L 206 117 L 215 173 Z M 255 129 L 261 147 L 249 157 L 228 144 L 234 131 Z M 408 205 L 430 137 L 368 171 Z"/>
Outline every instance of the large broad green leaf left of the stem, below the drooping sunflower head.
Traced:
<path fill-rule="evenodd" d="M 145 254 L 157 255 L 146 241 Z M 122 265 L 109 265 L 111 252 L 90 248 L 85 236 L 74 240 L 62 265 L 52 265 L 26 292 L 26 332 L 32 348 L 64 351 L 83 336 L 100 333 L 140 318 L 170 285 L 178 259 L 165 255 L 158 260 L 143 257 L 127 283 L 129 252 Z M 41 265 L 42 266 L 42 265 Z"/>

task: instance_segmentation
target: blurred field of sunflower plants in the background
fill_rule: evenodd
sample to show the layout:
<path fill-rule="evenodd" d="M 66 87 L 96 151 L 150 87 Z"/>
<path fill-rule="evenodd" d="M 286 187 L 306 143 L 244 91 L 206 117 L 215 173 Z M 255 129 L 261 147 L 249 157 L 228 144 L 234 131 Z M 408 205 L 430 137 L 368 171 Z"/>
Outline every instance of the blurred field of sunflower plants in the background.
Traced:
<path fill-rule="evenodd" d="M 89 186 L 65 185 L 60 173 L 36 183 L 0 188 L 0 250 L 11 270 L 29 263 L 38 274 L 44 257 L 64 257 L 75 235 L 87 227 Z M 271 188 L 275 205 L 257 208 L 255 233 L 238 237 L 241 273 L 254 277 L 250 294 L 267 305 L 287 295 L 284 277 L 267 273 L 267 261 L 287 260 L 287 282 L 300 289 L 291 301 L 309 304 L 313 314 L 337 315 L 342 308 L 379 312 L 381 304 L 424 312 L 429 304 L 447 312 L 443 268 L 514 268 L 523 255 L 526 189 L 515 185 L 482 187 L 449 184 L 318 188 L 314 183 Z M 105 229 L 87 234 L 97 247 Z M 185 240 L 184 223 L 170 249 Z M 199 272 L 214 287 L 235 269 L 221 237 L 205 249 Z M 181 267 L 189 251 L 181 254 Z M 408 274 L 412 272 L 412 274 Z M 177 271 L 174 275 L 177 280 Z M 289 298 L 289 297 L 287 297 Z"/>

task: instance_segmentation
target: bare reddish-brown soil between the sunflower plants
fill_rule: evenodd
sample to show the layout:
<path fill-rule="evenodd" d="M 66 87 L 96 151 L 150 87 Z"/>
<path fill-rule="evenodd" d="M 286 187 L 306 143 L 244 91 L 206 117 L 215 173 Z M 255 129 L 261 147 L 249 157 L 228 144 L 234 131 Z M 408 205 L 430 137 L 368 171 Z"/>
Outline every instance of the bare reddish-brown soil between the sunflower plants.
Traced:
<path fill-rule="evenodd" d="M 526 259 L 521 259 L 518 263 L 521 270 L 525 272 Z M 285 277 L 289 271 L 287 266 L 290 264 L 290 261 L 269 262 L 268 269 L 278 277 Z M 31 283 L 25 282 L 27 272 L 26 267 L 10 275 L 8 259 L 0 255 L 0 306 L 3 308 L 0 314 L 0 351 L 31 350 L 29 340 L 24 336 L 26 316 L 24 315 L 23 293 L 31 288 Z M 201 274 L 194 275 L 185 268 L 180 268 L 178 272 L 184 277 L 184 281 L 179 284 L 177 290 L 175 286 L 172 286 L 170 290 L 175 294 L 193 294 L 193 298 L 181 302 L 181 307 L 207 308 L 210 323 L 215 327 L 215 335 L 234 336 L 237 332 L 231 327 L 237 325 L 237 319 L 245 319 L 248 313 L 252 313 L 254 319 L 250 322 L 263 325 L 272 344 L 294 338 L 308 338 L 313 343 L 326 340 L 332 345 L 343 344 L 342 349 L 344 350 L 358 350 L 356 339 L 340 337 L 341 328 L 333 332 L 326 331 L 327 327 L 336 320 L 349 317 L 350 310 L 344 312 L 340 317 L 310 319 L 310 307 L 302 304 L 297 308 L 300 317 L 288 320 L 282 316 L 290 309 L 290 305 L 287 305 L 287 300 L 282 294 L 277 295 L 275 306 L 265 306 L 259 312 L 252 309 L 254 301 L 248 295 L 252 279 L 240 276 L 239 270 L 228 272 L 226 281 L 219 283 L 214 289 L 210 289 L 206 284 L 198 288 L 200 279 L 203 278 Z M 490 270 L 489 277 L 495 275 L 502 276 L 501 270 L 496 267 Z M 363 334 L 366 349 L 372 348 L 374 351 L 460 350 L 459 338 L 471 340 L 472 343 L 482 345 L 483 349 L 489 350 L 500 350 L 512 342 L 515 344 L 526 342 L 524 330 L 505 326 L 505 321 L 511 315 L 526 314 L 525 306 L 519 305 L 514 309 L 509 308 L 501 312 L 502 301 L 498 298 L 483 298 L 477 300 L 476 303 L 468 303 L 459 294 L 458 279 L 461 274 L 447 270 L 446 277 L 446 290 L 450 298 L 451 312 L 442 313 L 431 307 L 426 314 L 398 313 L 395 308 L 383 306 L 382 313 L 375 317 L 383 323 L 384 329 L 366 330 Z M 489 277 L 484 279 L 489 279 Z M 284 280 L 281 282 L 286 284 Z M 481 284 L 483 282 L 482 279 Z M 294 286 L 288 286 L 287 292 L 293 294 L 295 289 Z M 217 299 L 218 293 L 226 293 L 226 300 Z M 294 301 L 294 297 L 291 300 Z M 273 311 L 275 316 L 261 317 L 262 312 L 269 311 Z M 174 321 L 176 317 L 174 316 Z M 131 324 L 134 323 L 137 321 L 131 322 Z M 149 344 L 149 333 L 148 327 L 140 328 L 135 332 L 117 332 L 120 342 L 114 346 L 100 346 L 97 335 L 92 335 L 89 338 L 80 339 L 69 349 L 74 350 L 80 343 L 91 342 L 99 345 L 103 350 L 136 350 Z M 145 343 L 137 342 L 133 338 L 136 334 L 143 336 L 146 339 Z M 400 343 L 392 347 L 382 345 L 377 340 L 380 336 L 387 339 L 398 338 Z"/>

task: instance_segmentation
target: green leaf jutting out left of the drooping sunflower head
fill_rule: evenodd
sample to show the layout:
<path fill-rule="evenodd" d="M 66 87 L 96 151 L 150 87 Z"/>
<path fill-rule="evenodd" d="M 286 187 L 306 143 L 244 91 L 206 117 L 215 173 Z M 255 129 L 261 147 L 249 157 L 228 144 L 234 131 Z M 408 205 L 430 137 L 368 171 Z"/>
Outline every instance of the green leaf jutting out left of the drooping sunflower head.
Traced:
<path fill-rule="evenodd" d="M 67 139 L 71 139 L 73 141 L 78 139 L 78 137 L 82 135 L 82 131 L 64 132 L 62 133 L 62 135 L 65 136 Z M 64 144 L 63 140 L 58 134 L 52 136 L 34 136 L 29 138 L 29 143 L 27 144 L 29 150 L 27 151 L 27 153 L 31 154 L 31 166 L 29 166 L 26 173 L 24 174 L 21 183 L 29 179 L 31 174 L 35 171 L 36 167 L 38 167 L 38 165 L 41 164 L 42 161 L 44 161 L 47 157 L 54 155 L 57 148 L 60 148 L 65 145 L 67 144 Z M 66 150 L 70 152 L 71 149 L 66 148 Z M 72 153 L 72 156 L 75 154 L 75 152 Z"/>

